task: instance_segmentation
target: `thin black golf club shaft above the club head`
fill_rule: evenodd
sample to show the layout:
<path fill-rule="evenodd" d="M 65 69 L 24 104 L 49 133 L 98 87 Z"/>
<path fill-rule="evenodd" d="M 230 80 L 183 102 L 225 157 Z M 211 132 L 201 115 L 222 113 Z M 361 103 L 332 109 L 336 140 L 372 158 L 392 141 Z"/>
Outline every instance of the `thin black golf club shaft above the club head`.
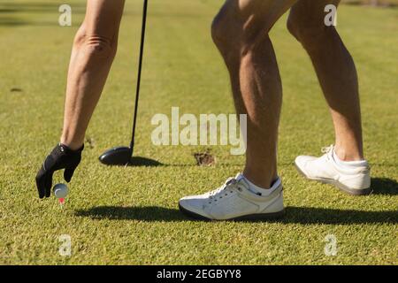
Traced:
<path fill-rule="evenodd" d="M 147 26 L 147 11 L 148 11 L 148 0 L 144 0 L 143 12 L 142 12 L 140 59 L 139 59 L 139 63 L 138 63 L 138 78 L 137 78 L 137 88 L 136 88 L 135 106 L 134 106 L 133 134 L 132 134 L 131 143 L 130 143 L 130 149 L 131 149 L 132 154 L 133 154 L 133 150 L 134 150 L 135 126 L 137 123 L 138 102 L 139 102 L 139 98 L 140 98 L 142 58 L 143 58 L 144 42 L 145 42 L 145 29 Z"/>

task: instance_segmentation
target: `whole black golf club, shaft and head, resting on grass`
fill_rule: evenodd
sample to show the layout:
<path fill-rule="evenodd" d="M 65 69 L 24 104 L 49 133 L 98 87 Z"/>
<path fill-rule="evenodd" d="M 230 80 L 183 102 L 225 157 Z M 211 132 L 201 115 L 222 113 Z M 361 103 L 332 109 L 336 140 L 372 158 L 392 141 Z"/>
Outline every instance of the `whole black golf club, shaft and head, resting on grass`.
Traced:
<path fill-rule="evenodd" d="M 116 147 L 109 149 L 99 157 L 101 163 L 106 165 L 126 165 L 131 162 L 134 153 L 134 137 L 135 137 L 135 126 L 137 121 L 138 102 L 140 97 L 140 86 L 141 86 L 141 73 L 142 73 L 142 57 L 144 51 L 145 42 L 145 27 L 147 23 L 147 10 L 148 0 L 144 0 L 143 13 L 142 13 L 142 34 L 141 34 L 141 47 L 140 47 L 140 59 L 138 64 L 138 78 L 137 88 L 135 94 L 135 106 L 134 106 L 134 119 L 133 119 L 133 134 L 130 142 L 130 147 Z"/>

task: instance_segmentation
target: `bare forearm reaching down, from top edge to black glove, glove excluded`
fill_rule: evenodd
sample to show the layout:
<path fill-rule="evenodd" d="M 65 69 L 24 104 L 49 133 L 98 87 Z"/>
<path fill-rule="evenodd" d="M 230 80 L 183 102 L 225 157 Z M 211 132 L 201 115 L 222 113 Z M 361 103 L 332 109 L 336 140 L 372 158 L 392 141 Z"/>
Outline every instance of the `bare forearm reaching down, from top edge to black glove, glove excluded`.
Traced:
<path fill-rule="evenodd" d="M 125 1 L 88 0 L 73 43 L 61 142 L 79 149 L 116 55 Z"/>

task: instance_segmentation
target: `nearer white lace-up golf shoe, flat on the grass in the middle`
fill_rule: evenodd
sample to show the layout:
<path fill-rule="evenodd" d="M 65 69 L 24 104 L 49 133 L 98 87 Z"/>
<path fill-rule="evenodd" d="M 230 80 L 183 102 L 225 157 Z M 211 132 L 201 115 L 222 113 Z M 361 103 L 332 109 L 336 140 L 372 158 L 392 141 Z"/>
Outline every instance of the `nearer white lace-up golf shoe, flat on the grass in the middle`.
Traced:
<path fill-rule="evenodd" d="M 282 190 L 278 179 L 270 188 L 271 193 L 262 195 L 251 190 L 245 178 L 238 174 L 210 193 L 182 198 L 179 206 L 188 216 L 207 220 L 279 218 L 285 212 Z"/>

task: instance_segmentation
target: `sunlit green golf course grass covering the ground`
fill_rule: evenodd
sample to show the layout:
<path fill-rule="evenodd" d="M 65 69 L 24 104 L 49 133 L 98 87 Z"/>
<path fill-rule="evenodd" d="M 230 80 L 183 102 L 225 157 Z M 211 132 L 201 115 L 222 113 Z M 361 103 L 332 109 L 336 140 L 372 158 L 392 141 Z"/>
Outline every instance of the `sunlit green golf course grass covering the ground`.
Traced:
<path fill-rule="evenodd" d="M 279 173 L 287 217 L 203 223 L 180 215 L 179 198 L 218 187 L 241 170 L 243 157 L 211 147 L 218 164 L 198 167 L 193 154 L 205 148 L 153 146 L 150 119 L 172 106 L 233 112 L 209 33 L 222 1 L 150 2 L 135 154 L 165 165 L 108 168 L 97 161 L 103 149 L 129 139 L 142 11 L 140 1 L 129 1 L 119 55 L 88 129 L 93 144 L 64 209 L 54 198 L 37 198 L 34 175 L 61 131 L 65 72 L 84 7 L 69 1 L 73 27 L 58 27 L 60 1 L 0 2 L 0 264 L 398 264 L 398 10 L 342 6 L 339 18 L 360 76 L 374 193 L 344 195 L 295 172 L 297 155 L 319 154 L 333 142 L 333 126 L 309 58 L 284 18 L 272 39 L 285 91 Z M 72 237 L 71 257 L 58 254 L 61 234 Z M 324 254 L 327 234 L 337 237 L 337 256 Z"/>

